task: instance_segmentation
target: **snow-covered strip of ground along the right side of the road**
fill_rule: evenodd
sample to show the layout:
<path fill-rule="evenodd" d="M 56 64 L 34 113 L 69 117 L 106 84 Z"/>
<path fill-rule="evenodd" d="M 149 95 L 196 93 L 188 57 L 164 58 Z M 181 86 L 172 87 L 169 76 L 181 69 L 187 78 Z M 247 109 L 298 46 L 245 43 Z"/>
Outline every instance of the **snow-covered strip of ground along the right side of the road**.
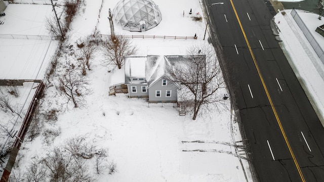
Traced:
<path fill-rule="evenodd" d="M 318 15 L 297 10 L 311 34 L 324 50 L 324 37 L 315 32 L 316 27 L 324 24 Z M 286 12 L 286 13 L 285 13 Z M 285 14 L 285 15 L 282 15 Z M 307 97 L 313 105 L 319 119 L 324 124 L 324 65 L 291 16 L 291 10 L 284 10 L 274 18 L 279 29 L 282 44 L 291 59 L 292 68 L 303 86 Z M 278 23 L 280 22 L 280 23 Z"/>

